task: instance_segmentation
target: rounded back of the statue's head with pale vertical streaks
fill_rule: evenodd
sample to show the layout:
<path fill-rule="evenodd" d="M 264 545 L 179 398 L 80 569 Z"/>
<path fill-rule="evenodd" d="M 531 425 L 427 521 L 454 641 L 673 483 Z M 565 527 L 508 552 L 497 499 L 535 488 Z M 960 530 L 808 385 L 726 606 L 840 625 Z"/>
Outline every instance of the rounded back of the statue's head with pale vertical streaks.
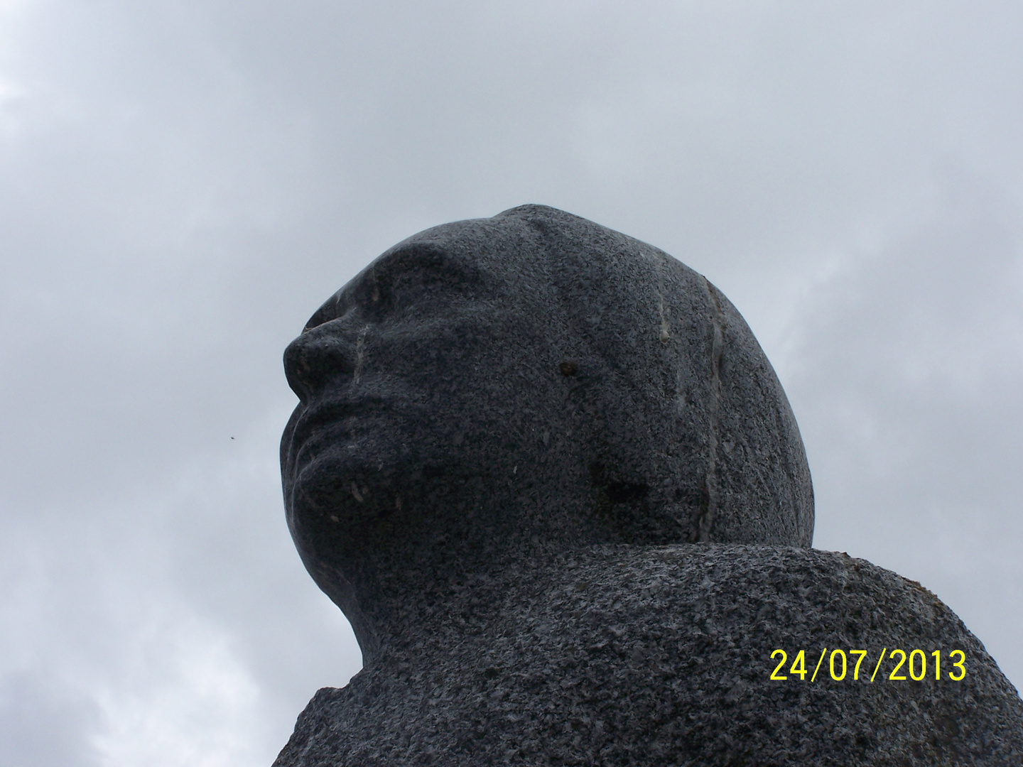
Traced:
<path fill-rule="evenodd" d="M 664 252 L 577 216 L 523 206 L 494 221 L 539 233 L 593 500 L 622 539 L 809 546 L 799 428 L 731 303 Z"/>

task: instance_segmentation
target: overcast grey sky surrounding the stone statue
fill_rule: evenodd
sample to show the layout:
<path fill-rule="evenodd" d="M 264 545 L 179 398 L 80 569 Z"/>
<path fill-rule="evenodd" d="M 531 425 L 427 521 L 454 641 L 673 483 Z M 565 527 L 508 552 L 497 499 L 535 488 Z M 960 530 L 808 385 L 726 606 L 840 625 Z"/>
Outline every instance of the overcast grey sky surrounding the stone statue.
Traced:
<path fill-rule="evenodd" d="M 1023 5 L 0 0 L 0 765 L 269 765 L 360 666 L 284 526 L 281 352 L 542 202 L 717 284 L 814 545 L 1023 684 Z"/>

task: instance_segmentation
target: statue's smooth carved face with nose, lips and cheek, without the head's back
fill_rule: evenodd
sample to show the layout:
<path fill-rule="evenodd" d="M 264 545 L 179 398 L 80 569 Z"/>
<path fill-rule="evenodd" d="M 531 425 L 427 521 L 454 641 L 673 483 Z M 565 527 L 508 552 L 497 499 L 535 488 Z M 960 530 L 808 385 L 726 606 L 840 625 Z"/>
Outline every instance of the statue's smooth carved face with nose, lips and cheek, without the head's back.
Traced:
<path fill-rule="evenodd" d="M 300 550 L 345 560 L 466 518 L 500 528 L 524 487 L 555 484 L 566 464 L 580 475 L 551 286 L 461 233 L 439 227 L 386 253 L 285 351 L 301 403 L 281 467 Z"/>

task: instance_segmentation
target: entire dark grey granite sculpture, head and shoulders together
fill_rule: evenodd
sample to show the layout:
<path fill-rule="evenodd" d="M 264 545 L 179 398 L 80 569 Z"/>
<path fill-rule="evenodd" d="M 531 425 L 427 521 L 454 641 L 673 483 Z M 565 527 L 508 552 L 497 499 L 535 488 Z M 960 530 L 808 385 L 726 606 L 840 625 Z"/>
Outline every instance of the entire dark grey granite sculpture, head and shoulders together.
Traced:
<path fill-rule="evenodd" d="M 661 251 L 541 206 L 429 229 L 284 364 L 288 528 L 364 668 L 276 765 L 1023 763 L 1023 704 L 962 622 L 809 548 L 785 393 Z M 791 670 L 828 648 L 840 680 Z M 944 676 L 853 680 L 855 648 Z"/>

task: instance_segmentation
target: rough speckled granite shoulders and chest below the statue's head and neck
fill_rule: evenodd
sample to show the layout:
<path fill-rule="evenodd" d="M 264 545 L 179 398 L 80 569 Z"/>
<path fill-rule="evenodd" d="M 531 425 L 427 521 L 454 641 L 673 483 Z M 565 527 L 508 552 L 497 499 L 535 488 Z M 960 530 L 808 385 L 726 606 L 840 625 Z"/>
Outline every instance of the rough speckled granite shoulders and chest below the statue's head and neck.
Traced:
<path fill-rule="evenodd" d="M 980 642 L 835 552 L 594 547 L 452 579 L 395 619 L 387 658 L 317 692 L 278 765 L 1023 764 L 1023 706 Z M 826 661 L 811 682 L 825 647 L 870 650 L 860 679 Z M 872 683 L 882 647 L 963 649 L 966 676 L 884 663 Z M 806 681 L 769 680 L 776 648 L 786 671 L 806 650 Z"/>

